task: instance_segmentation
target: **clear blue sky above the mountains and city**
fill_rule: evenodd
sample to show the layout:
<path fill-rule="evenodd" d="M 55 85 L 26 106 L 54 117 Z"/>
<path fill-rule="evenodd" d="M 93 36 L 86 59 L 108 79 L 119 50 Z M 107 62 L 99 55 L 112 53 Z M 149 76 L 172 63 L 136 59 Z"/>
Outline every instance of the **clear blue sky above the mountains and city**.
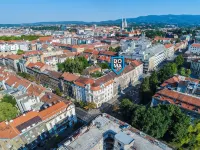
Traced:
<path fill-rule="evenodd" d="M 200 14 L 200 0 L 0 0 L 0 24 Z"/>

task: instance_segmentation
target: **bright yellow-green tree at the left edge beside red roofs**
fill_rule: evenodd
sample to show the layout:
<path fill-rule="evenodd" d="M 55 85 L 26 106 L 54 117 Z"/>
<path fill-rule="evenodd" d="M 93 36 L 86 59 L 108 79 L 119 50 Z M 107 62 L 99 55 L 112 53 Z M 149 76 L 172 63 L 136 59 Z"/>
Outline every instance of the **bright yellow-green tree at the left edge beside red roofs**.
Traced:
<path fill-rule="evenodd" d="M 12 104 L 6 102 L 0 102 L 0 122 L 5 120 L 11 120 L 18 114 L 17 108 Z"/>

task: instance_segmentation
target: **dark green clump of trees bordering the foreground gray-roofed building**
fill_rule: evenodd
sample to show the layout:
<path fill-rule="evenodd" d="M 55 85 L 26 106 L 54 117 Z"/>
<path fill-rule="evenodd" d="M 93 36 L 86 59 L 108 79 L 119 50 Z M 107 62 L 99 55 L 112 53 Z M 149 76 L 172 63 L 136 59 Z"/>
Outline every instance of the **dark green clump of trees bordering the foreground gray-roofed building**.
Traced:
<path fill-rule="evenodd" d="M 139 130 L 167 141 L 178 142 L 183 139 L 190 125 L 190 118 L 175 105 L 159 105 L 146 108 L 133 104 L 128 99 L 122 100 L 120 111 L 125 121 Z"/>

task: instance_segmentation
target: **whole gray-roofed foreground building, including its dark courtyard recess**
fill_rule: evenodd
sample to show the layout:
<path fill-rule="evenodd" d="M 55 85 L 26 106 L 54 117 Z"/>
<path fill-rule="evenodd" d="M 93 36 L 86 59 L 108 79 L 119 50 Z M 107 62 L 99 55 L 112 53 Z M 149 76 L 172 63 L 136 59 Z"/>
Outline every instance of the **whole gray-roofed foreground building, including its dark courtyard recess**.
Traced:
<path fill-rule="evenodd" d="M 87 140 L 85 140 L 87 139 Z M 144 134 L 108 114 L 102 114 L 92 123 L 78 130 L 58 150 L 172 150 L 166 144 Z"/>

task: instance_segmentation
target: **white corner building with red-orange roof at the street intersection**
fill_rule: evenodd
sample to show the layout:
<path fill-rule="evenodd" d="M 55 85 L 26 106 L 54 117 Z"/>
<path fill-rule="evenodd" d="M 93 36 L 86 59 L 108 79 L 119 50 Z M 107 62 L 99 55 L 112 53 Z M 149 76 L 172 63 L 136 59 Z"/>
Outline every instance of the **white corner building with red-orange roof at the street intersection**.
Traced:
<path fill-rule="evenodd" d="M 80 77 L 74 82 L 73 90 L 77 100 L 94 102 L 100 107 L 113 97 L 113 79 L 105 75 L 97 80 Z"/>

